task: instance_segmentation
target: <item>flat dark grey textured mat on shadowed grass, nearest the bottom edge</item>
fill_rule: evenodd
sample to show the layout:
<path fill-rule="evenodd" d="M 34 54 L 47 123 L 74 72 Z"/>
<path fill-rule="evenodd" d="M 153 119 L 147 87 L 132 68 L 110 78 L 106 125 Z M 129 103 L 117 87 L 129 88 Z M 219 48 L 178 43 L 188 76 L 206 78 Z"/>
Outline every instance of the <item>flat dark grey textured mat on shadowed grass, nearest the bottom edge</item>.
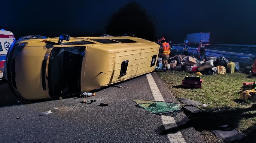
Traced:
<path fill-rule="evenodd" d="M 226 141 L 235 141 L 242 139 L 242 135 L 235 129 L 233 130 L 212 130 L 212 132 L 220 139 Z"/>

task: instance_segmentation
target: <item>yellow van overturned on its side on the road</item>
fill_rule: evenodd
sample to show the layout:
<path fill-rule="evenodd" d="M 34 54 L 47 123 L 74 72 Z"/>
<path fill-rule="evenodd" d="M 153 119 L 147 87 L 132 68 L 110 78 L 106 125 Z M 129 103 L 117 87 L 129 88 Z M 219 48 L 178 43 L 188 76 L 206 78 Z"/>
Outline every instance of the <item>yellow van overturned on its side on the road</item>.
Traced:
<path fill-rule="evenodd" d="M 158 52 L 136 37 L 24 36 L 9 48 L 5 74 L 17 96 L 57 99 L 150 73 Z"/>

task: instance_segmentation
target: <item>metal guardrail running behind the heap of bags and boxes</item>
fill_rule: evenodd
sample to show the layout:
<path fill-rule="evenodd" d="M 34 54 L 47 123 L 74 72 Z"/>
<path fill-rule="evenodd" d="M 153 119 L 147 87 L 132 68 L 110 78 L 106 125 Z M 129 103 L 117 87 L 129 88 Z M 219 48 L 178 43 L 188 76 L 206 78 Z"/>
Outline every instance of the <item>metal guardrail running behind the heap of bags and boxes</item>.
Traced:
<path fill-rule="evenodd" d="M 256 47 L 256 45 L 253 45 L 253 46 Z M 180 43 L 175 43 L 175 44 L 173 43 L 172 50 L 177 50 L 177 52 L 179 51 L 179 52 L 183 53 L 183 46 L 180 45 Z M 189 47 L 188 48 L 188 53 L 189 53 L 189 55 L 192 54 L 193 56 L 198 56 L 197 48 Z M 230 61 L 240 62 L 240 63 L 245 64 L 245 65 L 252 65 L 254 63 L 255 59 L 256 59 L 256 55 L 242 54 L 242 53 L 232 53 L 232 52 L 207 50 L 206 49 L 206 58 L 208 56 L 213 56 L 213 57 L 217 57 L 217 58 L 220 57 L 220 56 L 225 56 Z M 241 64 L 240 64 L 240 66 L 241 66 Z"/>

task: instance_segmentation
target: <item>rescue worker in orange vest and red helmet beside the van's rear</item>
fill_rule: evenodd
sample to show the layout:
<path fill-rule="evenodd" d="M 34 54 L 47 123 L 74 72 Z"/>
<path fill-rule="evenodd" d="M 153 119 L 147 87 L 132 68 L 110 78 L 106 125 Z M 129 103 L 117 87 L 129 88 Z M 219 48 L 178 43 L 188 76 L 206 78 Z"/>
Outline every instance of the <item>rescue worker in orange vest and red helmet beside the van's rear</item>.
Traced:
<path fill-rule="evenodd" d="M 163 71 L 166 71 L 166 64 L 168 64 L 167 58 L 170 56 L 170 45 L 166 43 L 165 39 L 162 37 L 160 39 L 161 45 L 160 45 L 160 52 L 159 56 L 162 56 L 162 64 L 163 64 Z"/>

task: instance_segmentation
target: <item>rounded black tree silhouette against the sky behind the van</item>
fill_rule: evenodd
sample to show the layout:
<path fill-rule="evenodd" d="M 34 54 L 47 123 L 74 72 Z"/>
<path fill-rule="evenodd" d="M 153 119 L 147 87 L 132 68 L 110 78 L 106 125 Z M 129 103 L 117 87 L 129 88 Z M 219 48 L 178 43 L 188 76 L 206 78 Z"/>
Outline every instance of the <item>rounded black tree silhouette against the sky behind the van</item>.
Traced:
<path fill-rule="evenodd" d="M 106 33 L 112 36 L 134 34 L 136 37 L 151 41 L 155 39 L 155 27 L 151 17 L 135 1 L 126 4 L 111 16 Z"/>

